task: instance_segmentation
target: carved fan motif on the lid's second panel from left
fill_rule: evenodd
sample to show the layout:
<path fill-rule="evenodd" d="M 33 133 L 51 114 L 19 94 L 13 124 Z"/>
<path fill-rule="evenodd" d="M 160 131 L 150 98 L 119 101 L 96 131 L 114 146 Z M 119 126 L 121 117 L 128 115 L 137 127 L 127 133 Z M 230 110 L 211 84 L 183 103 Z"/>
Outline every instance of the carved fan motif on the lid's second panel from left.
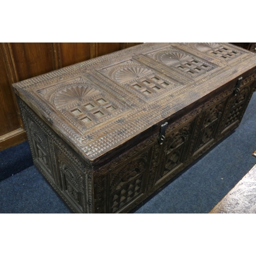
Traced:
<path fill-rule="evenodd" d="M 133 80 L 137 77 L 141 77 L 141 76 L 150 74 L 151 72 L 152 72 L 151 70 L 148 70 L 143 67 L 137 67 L 137 66 L 126 67 L 126 68 L 120 69 L 116 72 L 115 79 L 119 83 L 125 83 L 125 82 Z"/>

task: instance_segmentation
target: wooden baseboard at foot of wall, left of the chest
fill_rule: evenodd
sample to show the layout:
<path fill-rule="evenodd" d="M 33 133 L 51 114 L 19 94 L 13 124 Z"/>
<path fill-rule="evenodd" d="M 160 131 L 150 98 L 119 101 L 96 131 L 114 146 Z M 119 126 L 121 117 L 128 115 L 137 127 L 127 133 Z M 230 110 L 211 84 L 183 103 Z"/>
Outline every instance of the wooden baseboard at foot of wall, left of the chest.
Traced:
<path fill-rule="evenodd" d="M 8 147 L 15 146 L 27 140 L 27 135 L 24 129 L 19 128 L 11 133 L 0 137 L 0 151 Z"/>

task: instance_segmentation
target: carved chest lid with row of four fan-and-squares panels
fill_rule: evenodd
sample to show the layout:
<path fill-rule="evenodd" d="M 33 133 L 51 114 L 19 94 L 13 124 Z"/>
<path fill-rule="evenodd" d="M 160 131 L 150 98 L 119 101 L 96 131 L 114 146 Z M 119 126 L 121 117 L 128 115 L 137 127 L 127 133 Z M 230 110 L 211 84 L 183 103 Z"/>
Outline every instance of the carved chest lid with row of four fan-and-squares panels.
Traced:
<path fill-rule="evenodd" d="M 52 129 L 90 161 L 159 127 L 256 66 L 224 43 L 147 43 L 13 84 Z M 142 136 L 143 137 L 143 136 Z"/>

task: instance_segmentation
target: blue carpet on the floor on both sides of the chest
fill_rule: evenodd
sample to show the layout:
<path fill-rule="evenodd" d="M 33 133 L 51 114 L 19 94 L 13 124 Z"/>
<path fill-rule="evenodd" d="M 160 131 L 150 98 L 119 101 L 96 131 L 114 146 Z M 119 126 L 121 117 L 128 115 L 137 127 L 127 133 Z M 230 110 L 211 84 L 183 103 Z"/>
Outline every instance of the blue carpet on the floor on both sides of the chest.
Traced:
<path fill-rule="evenodd" d="M 256 149 L 255 109 L 256 93 L 234 133 L 132 212 L 208 213 L 256 162 L 251 156 Z M 28 145 L 24 144 L 16 155 L 27 152 L 24 147 Z M 0 182 L 0 212 L 69 213 L 70 210 L 31 166 Z"/>

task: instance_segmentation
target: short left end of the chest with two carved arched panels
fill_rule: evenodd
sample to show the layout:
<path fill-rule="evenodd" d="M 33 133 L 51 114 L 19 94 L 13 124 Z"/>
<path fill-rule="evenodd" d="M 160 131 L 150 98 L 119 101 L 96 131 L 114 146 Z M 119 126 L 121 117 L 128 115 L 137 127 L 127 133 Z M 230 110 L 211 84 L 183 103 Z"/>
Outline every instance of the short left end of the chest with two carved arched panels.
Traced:
<path fill-rule="evenodd" d="M 92 167 L 21 100 L 34 165 L 77 213 L 93 212 Z"/>

